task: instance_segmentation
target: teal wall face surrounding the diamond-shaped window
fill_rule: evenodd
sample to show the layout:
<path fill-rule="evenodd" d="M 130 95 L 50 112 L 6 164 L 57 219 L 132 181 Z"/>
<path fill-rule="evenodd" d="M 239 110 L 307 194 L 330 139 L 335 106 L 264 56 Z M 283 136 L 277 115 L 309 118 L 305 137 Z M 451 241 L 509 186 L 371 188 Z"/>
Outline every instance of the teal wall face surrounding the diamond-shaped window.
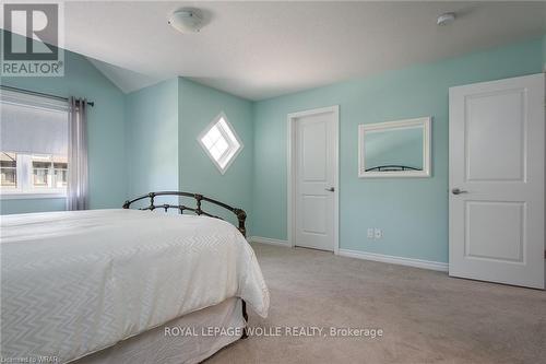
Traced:
<path fill-rule="evenodd" d="M 179 78 L 180 188 L 200 192 L 244 209 L 252 208 L 252 103 L 190 80 Z M 245 145 L 224 175 L 198 142 L 198 136 L 224 111 Z M 213 210 L 233 221 L 230 214 Z"/>

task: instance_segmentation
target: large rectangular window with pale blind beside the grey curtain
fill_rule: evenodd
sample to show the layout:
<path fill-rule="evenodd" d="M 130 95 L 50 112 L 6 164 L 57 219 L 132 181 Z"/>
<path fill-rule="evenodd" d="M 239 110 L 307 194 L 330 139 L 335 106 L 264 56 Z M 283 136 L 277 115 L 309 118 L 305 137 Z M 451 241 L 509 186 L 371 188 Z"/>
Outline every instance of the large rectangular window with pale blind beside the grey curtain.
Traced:
<path fill-rule="evenodd" d="M 67 103 L 4 90 L 0 102 L 2 198 L 66 195 Z"/>

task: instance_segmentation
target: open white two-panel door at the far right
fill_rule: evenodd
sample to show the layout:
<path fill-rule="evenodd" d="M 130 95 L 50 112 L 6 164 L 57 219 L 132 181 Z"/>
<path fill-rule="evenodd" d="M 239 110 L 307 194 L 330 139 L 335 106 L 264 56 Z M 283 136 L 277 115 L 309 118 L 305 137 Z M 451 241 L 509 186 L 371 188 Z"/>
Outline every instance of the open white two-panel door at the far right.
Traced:
<path fill-rule="evenodd" d="M 450 89 L 450 275 L 544 289 L 544 87 Z"/>

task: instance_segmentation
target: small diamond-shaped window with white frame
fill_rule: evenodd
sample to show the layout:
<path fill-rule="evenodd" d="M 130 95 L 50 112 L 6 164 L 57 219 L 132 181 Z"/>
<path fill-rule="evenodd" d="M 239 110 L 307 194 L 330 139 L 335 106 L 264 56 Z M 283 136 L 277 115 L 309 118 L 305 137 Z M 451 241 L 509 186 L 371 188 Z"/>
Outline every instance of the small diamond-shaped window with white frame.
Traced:
<path fill-rule="evenodd" d="M 242 150 L 242 142 L 224 113 L 221 113 L 203 130 L 198 140 L 222 174 Z"/>

